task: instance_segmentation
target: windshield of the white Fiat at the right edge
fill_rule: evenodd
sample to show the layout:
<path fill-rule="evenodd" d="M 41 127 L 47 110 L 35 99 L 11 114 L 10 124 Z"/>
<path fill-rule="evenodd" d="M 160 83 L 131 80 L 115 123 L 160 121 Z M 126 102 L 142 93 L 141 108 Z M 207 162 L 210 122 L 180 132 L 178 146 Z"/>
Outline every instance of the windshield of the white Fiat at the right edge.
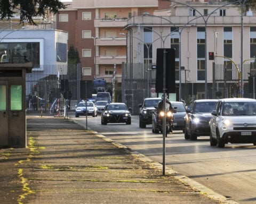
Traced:
<path fill-rule="evenodd" d="M 222 115 L 256 115 L 256 102 L 226 102 Z"/>

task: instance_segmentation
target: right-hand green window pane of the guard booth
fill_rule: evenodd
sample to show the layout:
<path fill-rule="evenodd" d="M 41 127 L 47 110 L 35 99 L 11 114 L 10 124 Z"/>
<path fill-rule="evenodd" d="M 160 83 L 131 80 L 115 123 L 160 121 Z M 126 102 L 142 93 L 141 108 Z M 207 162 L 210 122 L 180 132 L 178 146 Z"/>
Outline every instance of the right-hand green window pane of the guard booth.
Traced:
<path fill-rule="evenodd" d="M 22 110 L 22 86 L 11 85 L 11 111 Z"/>

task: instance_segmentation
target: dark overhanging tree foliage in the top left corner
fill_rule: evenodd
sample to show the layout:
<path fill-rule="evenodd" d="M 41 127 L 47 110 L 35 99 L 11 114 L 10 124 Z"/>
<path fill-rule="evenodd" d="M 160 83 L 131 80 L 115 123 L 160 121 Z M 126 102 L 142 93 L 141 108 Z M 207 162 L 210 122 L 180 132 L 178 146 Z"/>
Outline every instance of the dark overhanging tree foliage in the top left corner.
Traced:
<path fill-rule="evenodd" d="M 36 24 L 33 17 L 45 17 L 46 10 L 56 14 L 60 9 L 67 8 L 60 0 L 0 0 L 0 18 L 10 19 L 14 14 L 20 14 L 20 22 L 28 21 Z"/>

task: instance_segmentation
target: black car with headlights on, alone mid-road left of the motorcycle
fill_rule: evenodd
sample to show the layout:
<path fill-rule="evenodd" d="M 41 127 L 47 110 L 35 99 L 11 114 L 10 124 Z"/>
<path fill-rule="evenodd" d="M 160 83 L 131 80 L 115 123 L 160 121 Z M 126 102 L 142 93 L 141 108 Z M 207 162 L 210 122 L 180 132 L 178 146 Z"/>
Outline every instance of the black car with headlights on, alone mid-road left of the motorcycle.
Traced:
<path fill-rule="evenodd" d="M 131 108 L 127 108 L 124 103 L 107 104 L 101 113 L 101 124 L 107 123 L 126 123 L 130 125 L 132 122 Z"/>

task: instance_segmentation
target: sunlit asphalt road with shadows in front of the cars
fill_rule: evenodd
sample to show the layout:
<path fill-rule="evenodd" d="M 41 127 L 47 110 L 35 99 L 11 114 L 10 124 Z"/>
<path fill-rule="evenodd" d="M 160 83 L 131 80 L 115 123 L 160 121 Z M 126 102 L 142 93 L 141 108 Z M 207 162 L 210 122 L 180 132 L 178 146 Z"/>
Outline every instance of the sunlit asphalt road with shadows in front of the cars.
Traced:
<path fill-rule="evenodd" d="M 72 116 L 70 116 L 72 117 Z M 86 126 L 86 117 L 73 118 Z M 163 137 L 154 134 L 151 125 L 139 128 L 139 117 L 132 124 L 101 125 L 100 117 L 87 117 L 87 128 L 97 131 L 126 147 L 163 163 Z M 197 141 L 184 139 L 182 131 L 166 138 L 166 167 L 174 169 L 207 188 L 241 204 L 256 203 L 256 146 L 228 144 L 225 148 L 211 147 L 209 137 Z"/>

